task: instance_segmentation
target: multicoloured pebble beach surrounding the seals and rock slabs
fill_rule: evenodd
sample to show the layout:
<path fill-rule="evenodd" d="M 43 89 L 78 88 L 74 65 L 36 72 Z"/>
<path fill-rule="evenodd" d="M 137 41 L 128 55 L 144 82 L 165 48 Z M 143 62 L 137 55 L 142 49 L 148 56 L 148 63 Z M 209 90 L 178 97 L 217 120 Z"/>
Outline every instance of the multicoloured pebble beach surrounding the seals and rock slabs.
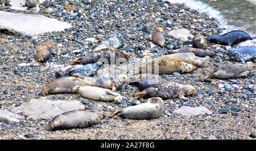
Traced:
<path fill-rule="evenodd" d="M 0 2 L 1 11 L 33 14 L 30 11 L 10 9 L 8 1 Z M 104 37 L 119 32 L 125 43 L 118 48 L 137 60 L 156 58 L 169 54 L 172 49 L 192 47 L 188 41 L 176 39 L 168 32 L 185 28 L 192 35 L 201 33 L 208 37 L 220 35 L 217 19 L 209 18 L 189 7 L 169 1 L 52 1 L 40 4 L 38 14 L 71 24 L 64 31 L 42 35 L 14 35 L 0 32 L 0 109 L 12 107 L 33 98 L 50 100 L 79 100 L 85 109 L 106 115 L 100 123 L 87 128 L 47 131 L 48 120 L 34 120 L 20 113 L 20 122 L 0 123 L 2 140 L 253 140 L 256 132 L 255 115 L 255 70 L 245 78 L 203 79 L 214 69 L 236 62 L 224 53 L 224 45 L 208 43 L 208 51 L 222 53 L 211 57 L 203 68 L 191 73 L 162 74 L 158 84 L 177 82 L 195 87 L 198 95 L 187 99 L 164 100 L 164 111 L 158 119 L 131 120 L 110 115 L 114 110 L 147 102 L 134 99 L 139 90 L 125 83 L 118 90 L 124 99 L 120 104 L 82 98 L 78 94 L 50 94 L 43 96 L 40 90 L 55 79 L 58 66 L 68 65 L 77 57 L 92 52 Z M 166 43 L 160 47 L 151 39 L 156 27 L 162 27 Z M 40 63 L 36 49 L 40 45 L 52 46 L 52 57 Z M 248 61 L 247 64 L 255 64 Z M 122 65 L 117 65 L 122 69 Z M 98 75 L 104 75 L 104 69 Z M 130 77 L 135 81 L 138 76 Z M 173 111 L 181 106 L 204 106 L 210 115 L 184 116 Z"/>

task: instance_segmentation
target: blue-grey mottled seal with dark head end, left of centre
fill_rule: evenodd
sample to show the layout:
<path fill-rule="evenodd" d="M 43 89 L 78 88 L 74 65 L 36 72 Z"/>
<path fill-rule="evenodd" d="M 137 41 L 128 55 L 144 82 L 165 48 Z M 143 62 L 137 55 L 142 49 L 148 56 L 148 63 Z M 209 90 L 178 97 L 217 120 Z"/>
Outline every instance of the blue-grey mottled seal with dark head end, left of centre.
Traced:
<path fill-rule="evenodd" d="M 70 77 L 73 74 L 80 74 L 83 76 L 94 76 L 96 75 L 98 68 L 100 68 L 103 64 L 101 62 L 96 62 L 94 64 L 86 64 L 86 65 L 73 65 L 71 68 L 67 70 L 55 72 L 55 77 Z"/>

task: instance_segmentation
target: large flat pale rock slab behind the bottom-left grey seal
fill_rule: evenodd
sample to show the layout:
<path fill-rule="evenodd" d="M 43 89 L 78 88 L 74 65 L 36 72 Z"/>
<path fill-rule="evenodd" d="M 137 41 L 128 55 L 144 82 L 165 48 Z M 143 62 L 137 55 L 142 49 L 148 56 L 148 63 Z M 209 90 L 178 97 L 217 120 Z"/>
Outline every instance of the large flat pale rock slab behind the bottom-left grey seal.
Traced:
<path fill-rule="evenodd" d="M 15 113 L 23 112 L 31 116 L 32 119 L 52 120 L 55 116 L 67 111 L 84 109 L 84 105 L 78 100 L 56 100 L 52 101 L 46 98 L 31 99 L 22 103 L 18 107 L 12 108 Z"/>

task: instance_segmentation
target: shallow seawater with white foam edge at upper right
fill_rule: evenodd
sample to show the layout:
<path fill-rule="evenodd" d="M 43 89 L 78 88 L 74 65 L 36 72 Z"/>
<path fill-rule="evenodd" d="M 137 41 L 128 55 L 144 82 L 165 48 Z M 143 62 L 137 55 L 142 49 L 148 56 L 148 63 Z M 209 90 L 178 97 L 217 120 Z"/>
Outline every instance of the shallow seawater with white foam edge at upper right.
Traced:
<path fill-rule="evenodd" d="M 184 0 L 184 3 L 218 19 L 225 28 L 223 32 L 242 30 L 256 36 L 255 0 Z"/>

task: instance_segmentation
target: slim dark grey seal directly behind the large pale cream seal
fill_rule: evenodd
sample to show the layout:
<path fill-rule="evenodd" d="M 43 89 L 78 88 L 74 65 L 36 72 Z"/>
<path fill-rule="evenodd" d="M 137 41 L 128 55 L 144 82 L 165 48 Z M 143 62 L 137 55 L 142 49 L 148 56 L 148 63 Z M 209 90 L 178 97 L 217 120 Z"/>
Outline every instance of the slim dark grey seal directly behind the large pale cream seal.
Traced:
<path fill-rule="evenodd" d="M 199 49 L 199 48 L 191 48 L 191 47 L 182 47 L 180 49 L 175 49 L 175 50 L 169 50 L 168 53 L 188 53 L 192 52 L 198 57 L 213 57 L 213 56 L 222 56 L 221 54 L 214 53 L 213 51 L 205 51 L 204 49 Z"/>

